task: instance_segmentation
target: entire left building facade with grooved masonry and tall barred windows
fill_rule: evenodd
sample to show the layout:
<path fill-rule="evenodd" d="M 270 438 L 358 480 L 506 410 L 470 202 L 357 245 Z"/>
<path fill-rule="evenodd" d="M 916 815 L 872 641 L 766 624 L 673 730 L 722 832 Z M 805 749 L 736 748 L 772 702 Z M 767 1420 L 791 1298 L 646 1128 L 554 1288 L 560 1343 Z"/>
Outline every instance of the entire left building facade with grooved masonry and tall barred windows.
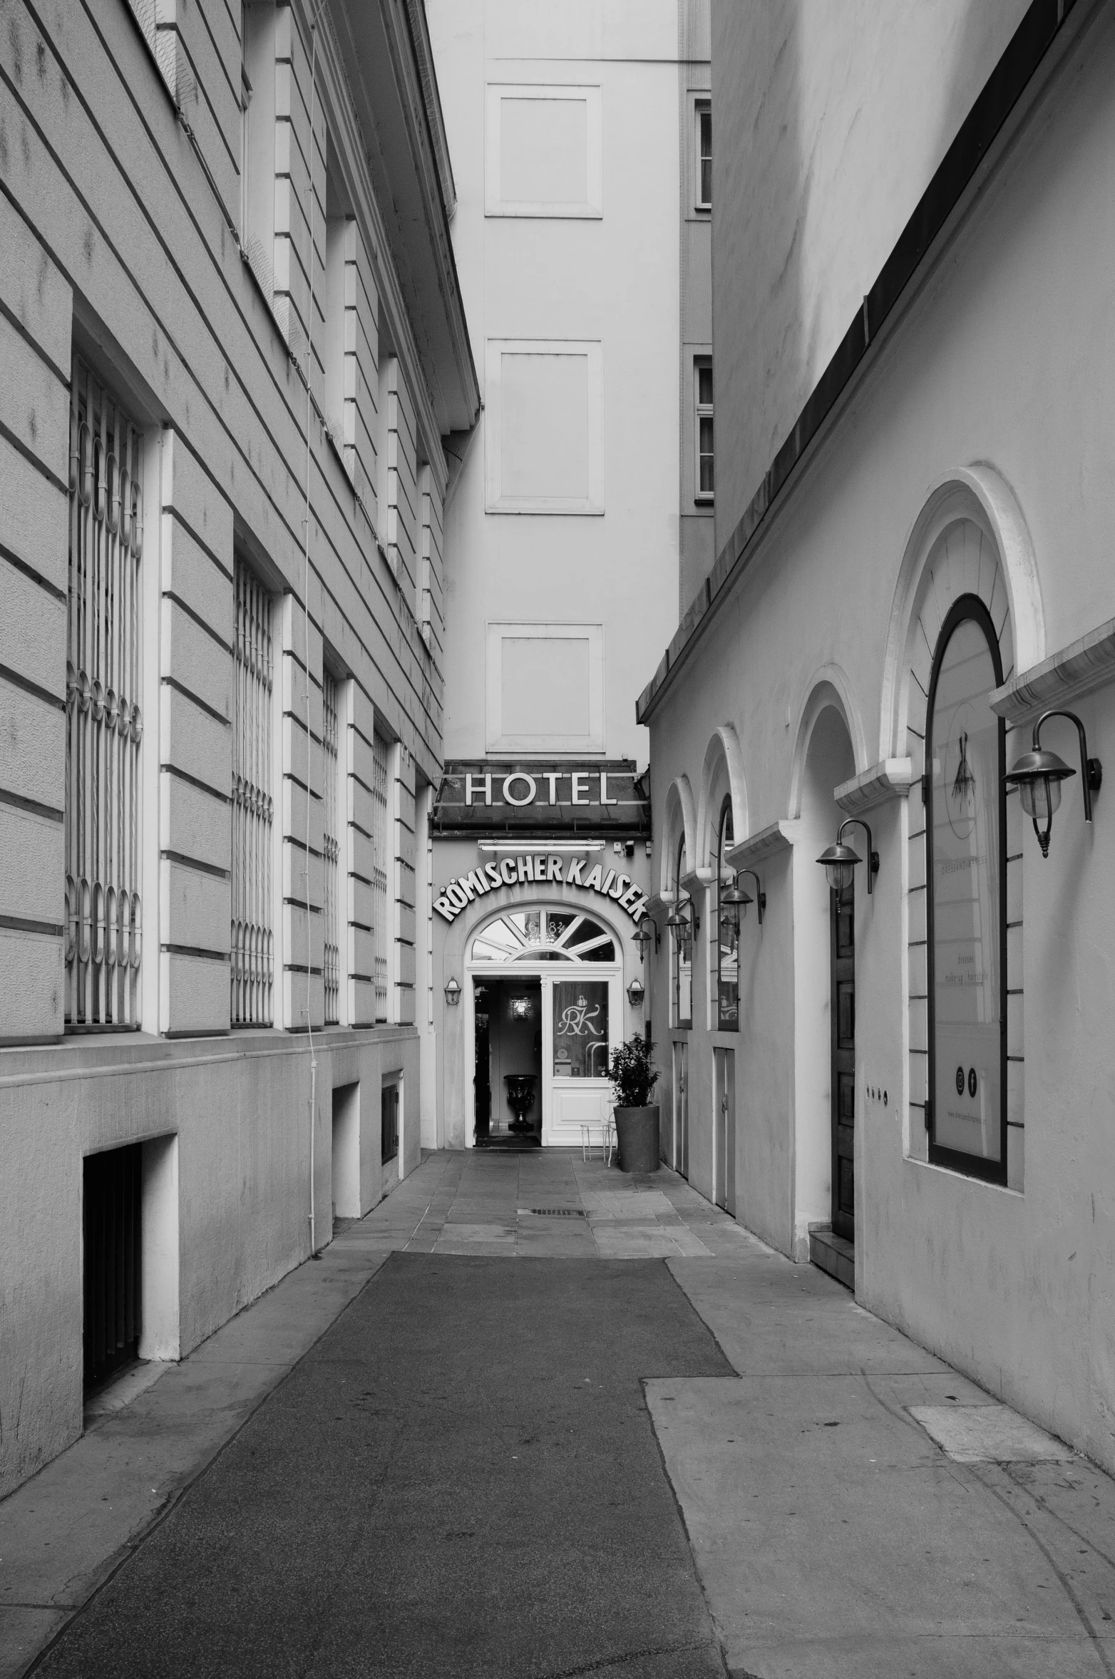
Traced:
<path fill-rule="evenodd" d="M 0 54 L 3 1491 L 418 1160 L 479 388 L 420 3 Z"/>

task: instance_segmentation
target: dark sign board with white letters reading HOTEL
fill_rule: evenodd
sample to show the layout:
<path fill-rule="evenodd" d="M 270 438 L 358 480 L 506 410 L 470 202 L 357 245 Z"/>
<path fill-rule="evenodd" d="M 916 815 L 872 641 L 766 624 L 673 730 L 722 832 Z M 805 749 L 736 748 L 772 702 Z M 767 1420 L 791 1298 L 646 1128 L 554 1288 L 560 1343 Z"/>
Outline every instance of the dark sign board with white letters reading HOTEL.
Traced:
<path fill-rule="evenodd" d="M 432 829 L 469 840 L 532 833 L 648 840 L 650 792 L 630 757 L 458 761 L 445 766 Z"/>

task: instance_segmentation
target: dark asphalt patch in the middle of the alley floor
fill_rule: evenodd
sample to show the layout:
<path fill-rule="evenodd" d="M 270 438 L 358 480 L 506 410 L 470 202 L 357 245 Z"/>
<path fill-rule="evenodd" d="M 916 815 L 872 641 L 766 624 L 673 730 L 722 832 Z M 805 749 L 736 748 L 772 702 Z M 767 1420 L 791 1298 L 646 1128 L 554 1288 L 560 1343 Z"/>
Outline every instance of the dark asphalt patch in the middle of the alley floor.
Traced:
<path fill-rule="evenodd" d="M 641 1387 L 699 1375 L 662 1261 L 395 1253 L 37 1672 L 722 1676 Z"/>

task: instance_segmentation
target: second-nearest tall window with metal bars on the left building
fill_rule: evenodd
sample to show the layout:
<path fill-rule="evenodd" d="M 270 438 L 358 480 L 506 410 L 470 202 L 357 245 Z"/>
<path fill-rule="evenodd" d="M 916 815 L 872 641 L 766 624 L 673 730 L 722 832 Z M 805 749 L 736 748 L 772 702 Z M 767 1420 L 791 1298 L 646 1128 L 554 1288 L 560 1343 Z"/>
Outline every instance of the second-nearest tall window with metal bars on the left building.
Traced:
<path fill-rule="evenodd" d="M 237 646 L 232 729 L 232 1024 L 274 1021 L 270 596 L 235 562 Z"/>

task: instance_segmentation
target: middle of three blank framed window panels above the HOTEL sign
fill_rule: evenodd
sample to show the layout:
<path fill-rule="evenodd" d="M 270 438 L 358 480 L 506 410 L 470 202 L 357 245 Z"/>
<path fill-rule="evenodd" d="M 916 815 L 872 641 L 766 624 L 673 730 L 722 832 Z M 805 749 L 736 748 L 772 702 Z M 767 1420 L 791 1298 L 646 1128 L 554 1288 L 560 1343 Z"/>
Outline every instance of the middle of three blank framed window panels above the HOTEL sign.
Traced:
<path fill-rule="evenodd" d="M 487 341 L 484 460 L 490 514 L 603 514 L 598 339 Z"/>

